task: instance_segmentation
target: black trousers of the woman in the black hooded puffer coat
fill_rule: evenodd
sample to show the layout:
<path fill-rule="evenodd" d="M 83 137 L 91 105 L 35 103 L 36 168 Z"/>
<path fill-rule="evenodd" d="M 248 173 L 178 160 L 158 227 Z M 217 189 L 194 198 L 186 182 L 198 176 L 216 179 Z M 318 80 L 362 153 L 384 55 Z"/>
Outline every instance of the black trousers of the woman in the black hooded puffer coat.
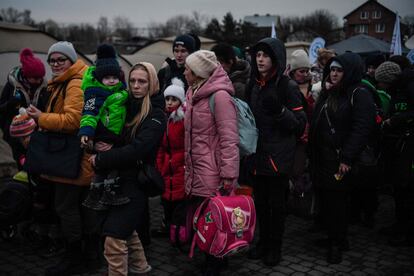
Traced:
<path fill-rule="evenodd" d="M 349 192 L 341 190 L 320 190 L 320 208 L 323 210 L 323 224 L 328 231 L 331 244 L 341 244 L 347 238 Z"/>

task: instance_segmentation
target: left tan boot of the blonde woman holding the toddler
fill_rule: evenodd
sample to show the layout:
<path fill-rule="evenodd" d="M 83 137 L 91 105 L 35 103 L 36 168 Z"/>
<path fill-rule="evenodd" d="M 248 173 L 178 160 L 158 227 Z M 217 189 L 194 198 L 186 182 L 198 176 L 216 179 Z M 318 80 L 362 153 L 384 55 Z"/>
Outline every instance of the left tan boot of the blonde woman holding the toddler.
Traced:
<path fill-rule="evenodd" d="M 106 237 L 104 255 L 109 276 L 128 275 L 128 247 L 125 240 Z"/>

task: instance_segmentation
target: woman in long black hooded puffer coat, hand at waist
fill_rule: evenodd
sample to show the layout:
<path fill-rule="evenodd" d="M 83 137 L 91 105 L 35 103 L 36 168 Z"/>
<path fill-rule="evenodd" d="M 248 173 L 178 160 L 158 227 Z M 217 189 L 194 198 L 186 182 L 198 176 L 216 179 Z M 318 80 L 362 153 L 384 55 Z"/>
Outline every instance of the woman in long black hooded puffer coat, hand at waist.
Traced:
<path fill-rule="evenodd" d="M 340 263 L 341 251 L 348 247 L 350 172 L 375 130 L 375 103 L 372 94 L 361 85 L 362 68 L 361 58 L 354 53 L 328 62 L 311 123 L 311 169 L 315 186 L 321 190 L 329 263 Z"/>

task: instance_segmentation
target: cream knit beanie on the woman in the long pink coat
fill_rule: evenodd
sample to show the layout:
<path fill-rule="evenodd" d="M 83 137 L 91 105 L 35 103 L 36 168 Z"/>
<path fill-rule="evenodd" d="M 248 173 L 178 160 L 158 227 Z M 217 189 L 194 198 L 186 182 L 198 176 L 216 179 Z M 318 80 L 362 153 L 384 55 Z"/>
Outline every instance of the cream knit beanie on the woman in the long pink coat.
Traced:
<path fill-rule="evenodd" d="M 191 71 L 203 79 L 208 79 L 217 68 L 216 54 L 208 50 L 198 50 L 187 57 L 185 63 Z"/>

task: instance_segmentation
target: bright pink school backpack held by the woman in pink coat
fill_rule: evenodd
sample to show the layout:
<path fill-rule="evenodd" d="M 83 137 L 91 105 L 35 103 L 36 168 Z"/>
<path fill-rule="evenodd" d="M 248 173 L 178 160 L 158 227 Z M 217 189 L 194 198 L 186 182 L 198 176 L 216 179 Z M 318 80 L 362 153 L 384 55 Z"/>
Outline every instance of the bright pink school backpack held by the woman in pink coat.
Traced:
<path fill-rule="evenodd" d="M 253 199 L 246 195 L 208 198 L 197 208 L 195 230 L 190 251 L 197 244 L 201 251 L 224 257 L 247 249 L 253 240 L 256 209 Z"/>

